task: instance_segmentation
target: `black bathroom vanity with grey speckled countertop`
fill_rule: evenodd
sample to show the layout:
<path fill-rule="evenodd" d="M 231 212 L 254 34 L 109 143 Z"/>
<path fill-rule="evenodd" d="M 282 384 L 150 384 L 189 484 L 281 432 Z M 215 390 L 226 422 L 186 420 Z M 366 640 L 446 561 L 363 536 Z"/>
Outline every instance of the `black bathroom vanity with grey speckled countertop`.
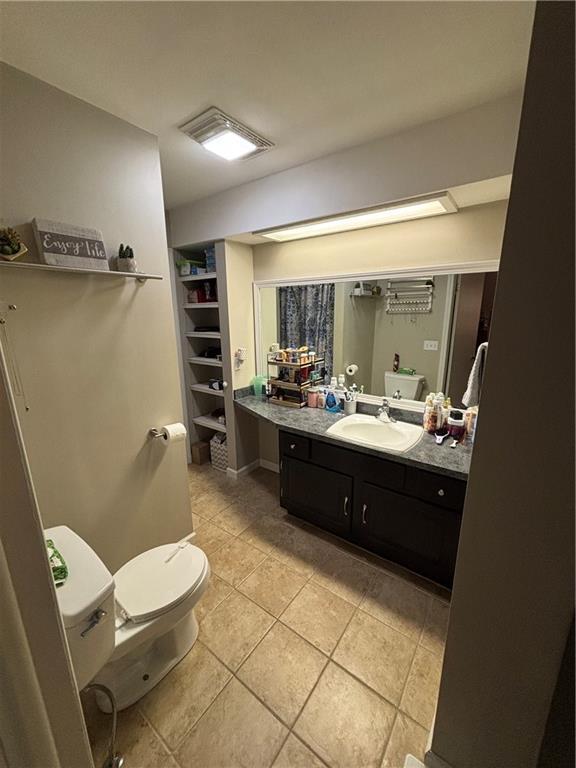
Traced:
<path fill-rule="evenodd" d="M 290 514 L 452 586 L 472 449 L 423 434 L 403 452 L 335 439 L 342 417 L 244 396 L 237 406 L 278 428 L 280 504 Z M 400 419 L 401 412 L 395 415 Z"/>

